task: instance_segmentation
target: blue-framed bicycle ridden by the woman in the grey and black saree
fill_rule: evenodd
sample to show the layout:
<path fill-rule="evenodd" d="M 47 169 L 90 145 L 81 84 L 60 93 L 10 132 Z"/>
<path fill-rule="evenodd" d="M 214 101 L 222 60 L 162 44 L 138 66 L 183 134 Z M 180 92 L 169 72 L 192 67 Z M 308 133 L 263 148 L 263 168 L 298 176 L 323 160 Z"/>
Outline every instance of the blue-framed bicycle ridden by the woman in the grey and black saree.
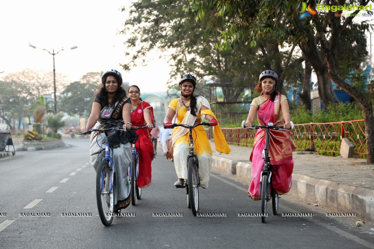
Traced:
<path fill-rule="evenodd" d="M 96 202 L 99 211 L 99 217 L 105 226 L 111 225 L 113 221 L 113 213 L 120 214 L 120 209 L 114 211 L 114 193 L 113 193 L 113 167 L 114 163 L 110 155 L 110 147 L 108 141 L 108 131 L 126 131 L 117 127 L 106 128 L 106 129 L 91 129 L 79 135 L 91 133 L 92 131 L 98 131 L 99 133 L 105 133 L 105 157 L 100 162 L 96 171 Z"/>

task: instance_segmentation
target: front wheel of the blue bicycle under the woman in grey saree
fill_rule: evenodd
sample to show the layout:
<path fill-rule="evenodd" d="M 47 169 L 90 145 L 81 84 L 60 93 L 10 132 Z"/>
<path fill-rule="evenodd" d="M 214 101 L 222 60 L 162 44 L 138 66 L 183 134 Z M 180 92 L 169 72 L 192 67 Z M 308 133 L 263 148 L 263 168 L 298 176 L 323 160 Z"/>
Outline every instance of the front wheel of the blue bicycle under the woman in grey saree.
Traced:
<path fill-rule="evenodd" d="M 105 226 L 109 226 L 113 221 L 114 194 L 113 189 L 110 193 L 110 169 L 108 162 L 102 161 L 96 172 L 96 202 L 99 211 L 99 217 Z M 102 189 L 101 189 L 102 186 Z M 103 194 L 103 192 L 105 194 Z M 110 215 L 105 215 L 110 214 Z"/>

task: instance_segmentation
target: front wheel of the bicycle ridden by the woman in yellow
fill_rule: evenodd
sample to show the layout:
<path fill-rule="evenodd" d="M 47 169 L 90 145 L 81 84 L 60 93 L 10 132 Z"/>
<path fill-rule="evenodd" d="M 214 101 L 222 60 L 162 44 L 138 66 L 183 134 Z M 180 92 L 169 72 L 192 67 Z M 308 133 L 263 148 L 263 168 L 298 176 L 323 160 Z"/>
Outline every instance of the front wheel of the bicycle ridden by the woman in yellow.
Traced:
<path fill-rule="evenodd" d="M 190 197 L 191 210 L 194 216 L 199 212 L 199 184 L 197 181 L 197 168 L 191 157 L 188 159 L 188 196 Z"/>

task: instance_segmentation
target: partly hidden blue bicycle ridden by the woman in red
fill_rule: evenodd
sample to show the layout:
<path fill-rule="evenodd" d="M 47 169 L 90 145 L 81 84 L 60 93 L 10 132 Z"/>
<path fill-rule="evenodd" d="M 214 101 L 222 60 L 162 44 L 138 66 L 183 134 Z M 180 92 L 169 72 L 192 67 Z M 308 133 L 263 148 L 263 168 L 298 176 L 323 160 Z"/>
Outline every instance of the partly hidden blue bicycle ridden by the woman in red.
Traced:
<path fill-rule="evenodd" d="M 153 126 L 154 127 L 154 126 Z M 131 130 L 138 130 L 141 128 L 148 128 L 148 126 L 131 127 Z M 136 199 L 141 199 L 141 188 L 137 186 L 139 175 L 139 153 L 136 151 L 135 143 L 132 143 L 131 149 L 131 165 L 129 167 L 129 181 L 131 186 L 131 204 L 136 204 Z M 135 199 L 136 196 L 136 199 Z"/>

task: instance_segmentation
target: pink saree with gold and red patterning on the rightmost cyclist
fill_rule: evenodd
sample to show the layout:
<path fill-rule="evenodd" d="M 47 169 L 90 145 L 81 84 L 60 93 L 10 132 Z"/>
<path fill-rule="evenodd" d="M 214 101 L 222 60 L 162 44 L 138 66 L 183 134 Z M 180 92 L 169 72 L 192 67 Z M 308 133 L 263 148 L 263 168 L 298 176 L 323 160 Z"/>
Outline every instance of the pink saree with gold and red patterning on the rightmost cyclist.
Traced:
<path fill-rule="evenodd" d="M 266 100 L 258 107 L 257 118 L 260 125 L 272 122 L 276 126 L 284 124 L 284 120 L 278 120 L 281 109 L 281 95 L 275 97 L 274 102 Z M 296 149 L 289 131 L 270 130 L 269 132 L 269 156 L 272 164 L 272 187 L 279 195 L 288 193 L 292 184 L 292 171 L 294 160 L 292 152 Z M 253 150 L 249 160 L 252 162 L 252 181 L 249 184 L 248 193 L 252 199 L 258 200 L 260 196 L 260 177 L 264 167 L 262 151 L 265 149 L 265 130 L 258 129 L 254 138 Z"/>

